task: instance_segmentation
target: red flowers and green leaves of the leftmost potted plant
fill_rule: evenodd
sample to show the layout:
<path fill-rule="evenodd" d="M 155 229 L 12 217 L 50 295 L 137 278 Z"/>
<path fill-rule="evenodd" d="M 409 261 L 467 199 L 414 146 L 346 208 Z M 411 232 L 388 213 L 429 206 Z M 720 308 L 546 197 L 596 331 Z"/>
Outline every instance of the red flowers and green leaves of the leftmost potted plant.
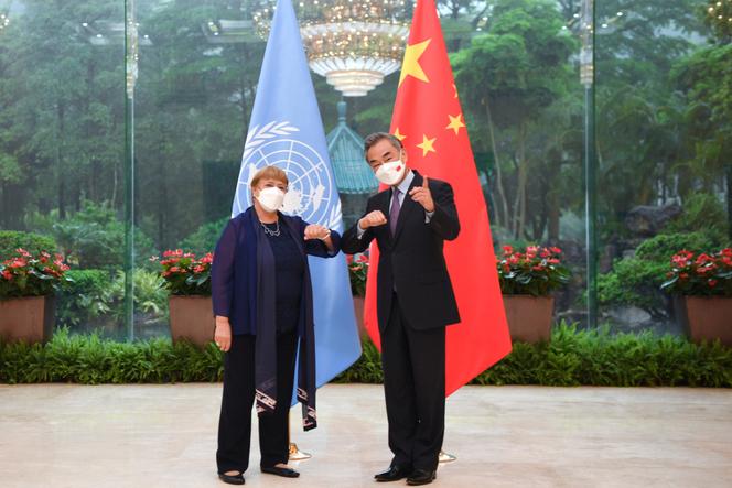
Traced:
<path fill-rule="evenodd" d="M 33 254 L 18 248 L 0 263 L 0 299 L 51 295 L 73 282 L 66 271 L 68 265 L 61 254 Z"/>

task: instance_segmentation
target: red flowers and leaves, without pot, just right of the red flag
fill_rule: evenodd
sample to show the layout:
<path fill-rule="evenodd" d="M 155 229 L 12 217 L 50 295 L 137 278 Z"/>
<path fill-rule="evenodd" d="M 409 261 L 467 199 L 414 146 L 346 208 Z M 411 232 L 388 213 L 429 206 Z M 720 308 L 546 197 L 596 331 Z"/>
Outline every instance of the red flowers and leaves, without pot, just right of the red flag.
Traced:
<path fill-rule="evenodd" d="M 497 262 L 500 292 L 506 295 L 546 296 L 569 282 L 570 271 L 561 263 L 557 247 L 527 246 L 517 250 L 503 247 Z"/>

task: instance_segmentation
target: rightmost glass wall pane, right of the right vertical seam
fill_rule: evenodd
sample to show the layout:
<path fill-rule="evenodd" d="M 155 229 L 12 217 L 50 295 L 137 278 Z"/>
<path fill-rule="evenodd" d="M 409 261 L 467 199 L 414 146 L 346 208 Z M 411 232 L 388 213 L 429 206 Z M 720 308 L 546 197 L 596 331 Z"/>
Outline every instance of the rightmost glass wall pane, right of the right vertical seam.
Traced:
<path fill-rule="evenodd" d="M 601 316 L 680 333 L 659 291 L 669 258 L 730 245 L 732 4 L 596 6 Z"/>

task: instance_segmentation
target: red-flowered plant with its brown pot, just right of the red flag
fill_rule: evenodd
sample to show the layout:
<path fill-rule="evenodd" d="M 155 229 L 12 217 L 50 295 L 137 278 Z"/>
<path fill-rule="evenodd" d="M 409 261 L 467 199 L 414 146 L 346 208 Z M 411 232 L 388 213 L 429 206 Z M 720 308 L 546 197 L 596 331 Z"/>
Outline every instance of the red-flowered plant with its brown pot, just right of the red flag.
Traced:
<path fill-rule="evenodd" d="M 497 262 L 510 337 L 524 343 L 549 340 L 555 310 L 551 292 L 569 282 L 561 263 L 561 249 L 528 246 L 516 250 L 504 246 Z"/>

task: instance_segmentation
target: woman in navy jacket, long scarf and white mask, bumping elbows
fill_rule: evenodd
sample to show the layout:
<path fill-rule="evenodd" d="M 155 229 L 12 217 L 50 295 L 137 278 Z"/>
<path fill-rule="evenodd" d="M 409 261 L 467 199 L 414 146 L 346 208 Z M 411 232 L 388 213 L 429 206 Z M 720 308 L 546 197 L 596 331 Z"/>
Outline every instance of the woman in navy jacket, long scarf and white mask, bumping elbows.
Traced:
<path fill-rule="evenodd" d="M 228 221 L 214 253 L 214 339 L 225 351 L 216 464 L 219 478 L 232 485 L 244 485 L 255 402 L 262 473 L 289 478 L 300 475 L 287 466 L 295 357 L 303 426 L 316 426 L 308 254 L 334 257 L 341 236 L 281 214 L 287 189 L 282 170 L 266 166 L 258 171 L 251 181 L 254 205 Z"/>

